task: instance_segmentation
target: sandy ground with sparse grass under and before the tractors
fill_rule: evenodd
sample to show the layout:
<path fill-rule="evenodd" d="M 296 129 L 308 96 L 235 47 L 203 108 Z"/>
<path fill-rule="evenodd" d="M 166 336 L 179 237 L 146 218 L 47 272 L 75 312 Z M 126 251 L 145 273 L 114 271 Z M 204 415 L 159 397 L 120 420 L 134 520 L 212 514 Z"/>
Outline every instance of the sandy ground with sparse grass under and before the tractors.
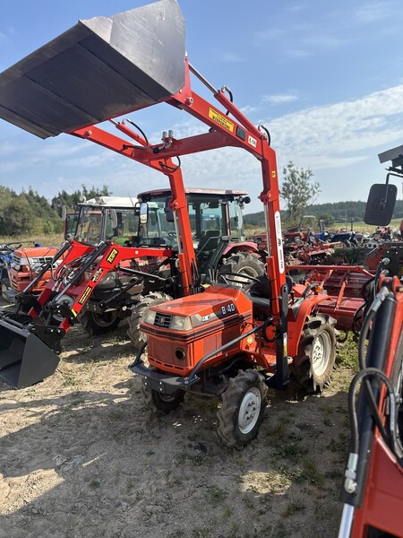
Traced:
<path fill-rule="evenodd" d="M 73 327 L 54 376 L 0 385 L 1 538 L 337 536 L 351 371 L 304 401 L 271 392 L 239 451 L 219 440 L 216 400 L 150 415 L 126 328 Z"/>

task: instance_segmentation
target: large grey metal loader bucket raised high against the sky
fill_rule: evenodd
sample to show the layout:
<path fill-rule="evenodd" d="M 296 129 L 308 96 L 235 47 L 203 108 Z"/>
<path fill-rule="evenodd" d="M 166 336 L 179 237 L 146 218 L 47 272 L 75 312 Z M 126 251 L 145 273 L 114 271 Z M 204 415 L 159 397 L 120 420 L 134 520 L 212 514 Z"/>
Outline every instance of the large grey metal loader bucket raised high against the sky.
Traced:
<path fill-rule="evenodd" d="M 47 138 L 121 116 L 179 91 L 184 56 L 176 0 L 82 20 L 0 74 L 0 117 Z"/>

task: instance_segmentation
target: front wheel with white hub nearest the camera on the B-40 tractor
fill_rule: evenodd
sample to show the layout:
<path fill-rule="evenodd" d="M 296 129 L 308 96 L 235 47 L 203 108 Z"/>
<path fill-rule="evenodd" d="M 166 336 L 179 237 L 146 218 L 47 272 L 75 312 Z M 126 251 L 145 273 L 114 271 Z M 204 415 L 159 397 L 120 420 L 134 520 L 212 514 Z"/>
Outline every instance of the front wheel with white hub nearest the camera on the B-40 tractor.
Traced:
<path fill-rule="evenodd" d="M 218 434 L 227 447 L 242 448 L 256 437 L 267 406 L 267 386 L 262 374 L 239 370 L 222 395 L 217 412 Z"/>

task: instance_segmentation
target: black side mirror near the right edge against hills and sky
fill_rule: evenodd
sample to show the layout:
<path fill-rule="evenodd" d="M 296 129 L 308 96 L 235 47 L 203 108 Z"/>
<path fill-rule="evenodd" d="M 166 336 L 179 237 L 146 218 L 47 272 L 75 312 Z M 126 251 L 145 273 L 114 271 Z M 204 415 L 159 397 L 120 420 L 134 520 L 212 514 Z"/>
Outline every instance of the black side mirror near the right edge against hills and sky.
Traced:
<path fill-rule="evenodd" d="M 395 209 L 398 187 L 389 183 L 375 183 L 368 195 L 364 222 L 373 226 L 387 226 Z"/>

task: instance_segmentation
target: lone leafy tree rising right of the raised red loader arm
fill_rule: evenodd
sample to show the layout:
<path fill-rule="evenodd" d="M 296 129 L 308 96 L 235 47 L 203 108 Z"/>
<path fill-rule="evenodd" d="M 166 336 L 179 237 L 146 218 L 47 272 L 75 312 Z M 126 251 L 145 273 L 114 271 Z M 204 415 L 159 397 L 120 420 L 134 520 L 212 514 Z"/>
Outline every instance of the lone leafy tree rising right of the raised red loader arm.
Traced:
<path fill-rule="evenodd" d="M 298 224 L 306 206 L 312 204 L 315 196 L 321 192 L 319 183 L 312 181 L 312 178 L 311 169 L 298 169 L 292 161 L 283 169 L 280 196 L 286 200 L 287 216 L 291 225 Z"/>

